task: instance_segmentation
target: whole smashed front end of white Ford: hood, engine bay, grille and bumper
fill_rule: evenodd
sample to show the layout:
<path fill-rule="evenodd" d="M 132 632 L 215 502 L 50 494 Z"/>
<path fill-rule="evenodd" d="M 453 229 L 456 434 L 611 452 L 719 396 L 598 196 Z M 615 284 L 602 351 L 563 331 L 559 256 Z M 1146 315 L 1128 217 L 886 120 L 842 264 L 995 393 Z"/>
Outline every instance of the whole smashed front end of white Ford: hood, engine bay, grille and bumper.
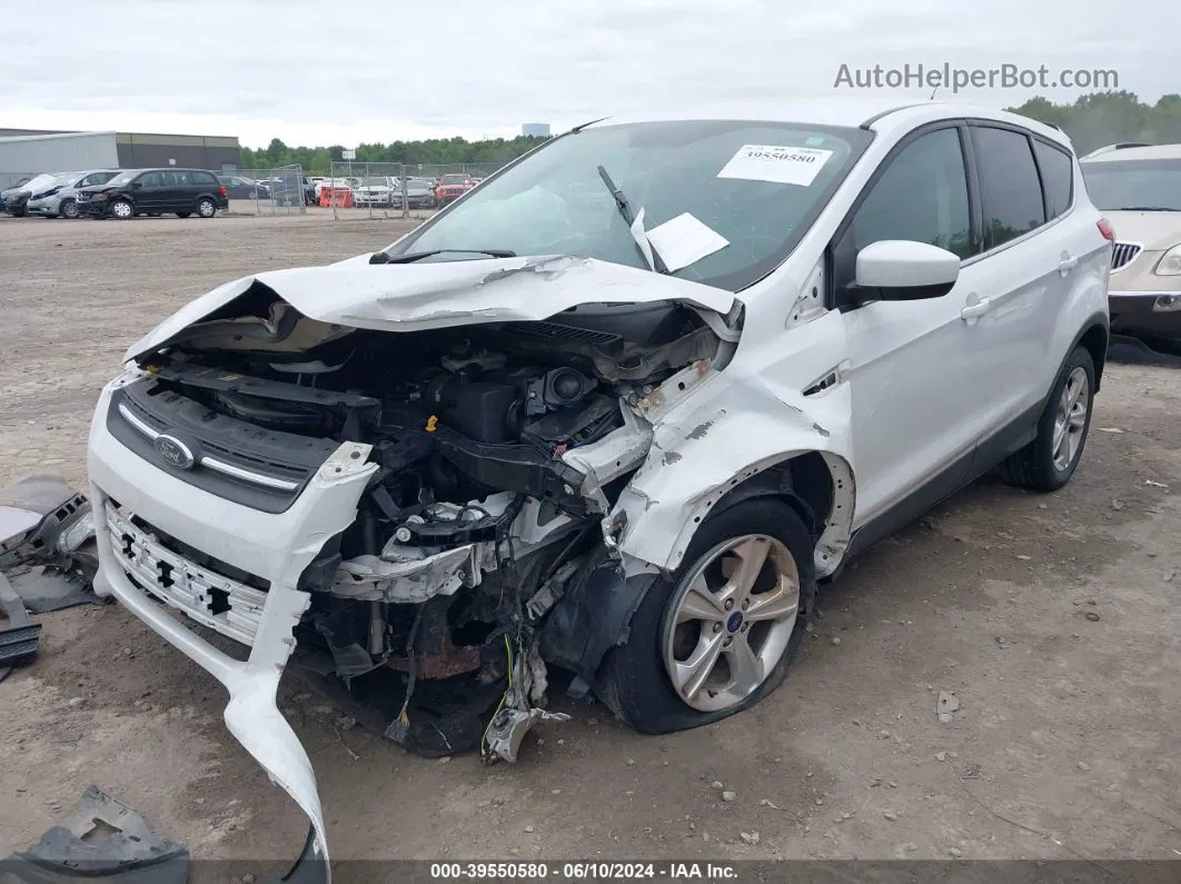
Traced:
<path fill-rule="evenodd" d="M 730 295 L 595 261 L 399 270 L 210 293 L 132 348 L 91 433 L 96 585 L 227 686 L 227 723 L 321 853 L 274 707 L 288 657 L 413 752 L 515 760 L 563 718 L 546 661 L 589 689 L 652 579 L 625 576 L 611 518 L 652 444 L 642 404 L 711 376 L 737 338 Z"/>

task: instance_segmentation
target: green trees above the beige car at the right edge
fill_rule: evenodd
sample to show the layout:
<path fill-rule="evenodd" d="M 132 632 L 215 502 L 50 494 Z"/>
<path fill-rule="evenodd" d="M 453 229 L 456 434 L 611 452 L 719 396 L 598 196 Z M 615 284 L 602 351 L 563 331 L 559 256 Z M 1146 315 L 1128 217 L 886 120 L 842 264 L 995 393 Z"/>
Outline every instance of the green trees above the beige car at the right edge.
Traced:
<path fill-rule="evenodd" d="M 1010 111 L 1058 126 L 1075 150 L 1087 153 L 1116 142 L 1181 143 L 1181 96 L 1162 96 L 1144 104 L 1134 92 L 1091 92 L 1072 103 L 1031 98 Z"/>

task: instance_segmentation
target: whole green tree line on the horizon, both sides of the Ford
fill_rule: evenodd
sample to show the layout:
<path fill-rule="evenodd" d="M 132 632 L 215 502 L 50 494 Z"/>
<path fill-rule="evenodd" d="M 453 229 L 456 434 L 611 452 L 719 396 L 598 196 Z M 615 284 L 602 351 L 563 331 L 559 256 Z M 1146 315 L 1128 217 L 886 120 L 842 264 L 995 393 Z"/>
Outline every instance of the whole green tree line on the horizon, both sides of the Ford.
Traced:
<path fill-rule="evenodd" d="M 1010 111 L 1058 126 L 1075 149 L 1087 153 L 1115 142 L 1181 143 L 1181 96 L 1162 96 L 1144 104 L 1134 92 L 1092 92 L 1070 103 L 1056 104 L 1031 98 Z M 502 164 L 541 144 L 544 138 L 517 136 L 469 142 L 464 138 L 431 138 L 423 142 L 360 144 L 357 163 L 405 163 L 407 165 Z M 274 169 L 299 164 L 308 175 L 326 175 L 340 162 L 342 146 L 292 148 L 279 138 L 266 148 L 242 148 L 243 169 Z"/>

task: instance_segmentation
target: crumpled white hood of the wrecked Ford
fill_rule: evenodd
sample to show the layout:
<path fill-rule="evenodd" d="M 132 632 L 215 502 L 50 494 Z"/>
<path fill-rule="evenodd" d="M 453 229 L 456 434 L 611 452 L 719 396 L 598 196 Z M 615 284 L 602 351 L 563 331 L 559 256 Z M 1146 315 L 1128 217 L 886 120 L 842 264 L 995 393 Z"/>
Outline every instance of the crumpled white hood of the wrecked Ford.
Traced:
<path fill-rule="evenodd" d="M 308 319 L 384 332 L 530 322 L 586 303 L 681 301 L 720 314 L 735 303 L 731 293 L 718 288 L 595 258 L 370 264 L 368 255 L 359 255 L 337 264 L 275 270 L 220 286 L 133 343 L 125 360 L 170 342 L 255 286 L 270 289 Z"/>

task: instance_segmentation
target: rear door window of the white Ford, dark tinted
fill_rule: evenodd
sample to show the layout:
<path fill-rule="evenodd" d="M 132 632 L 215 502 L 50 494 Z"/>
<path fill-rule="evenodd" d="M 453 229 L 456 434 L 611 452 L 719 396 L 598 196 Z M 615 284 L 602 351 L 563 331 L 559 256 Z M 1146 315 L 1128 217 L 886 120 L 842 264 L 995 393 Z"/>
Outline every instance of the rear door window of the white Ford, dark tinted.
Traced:
<path fill-rule="evenodd" d="M 992 249 L 1045 223 L 1042 182 L 1025 135 L 991 126 L 974 130 L 984 247 Z"/>

